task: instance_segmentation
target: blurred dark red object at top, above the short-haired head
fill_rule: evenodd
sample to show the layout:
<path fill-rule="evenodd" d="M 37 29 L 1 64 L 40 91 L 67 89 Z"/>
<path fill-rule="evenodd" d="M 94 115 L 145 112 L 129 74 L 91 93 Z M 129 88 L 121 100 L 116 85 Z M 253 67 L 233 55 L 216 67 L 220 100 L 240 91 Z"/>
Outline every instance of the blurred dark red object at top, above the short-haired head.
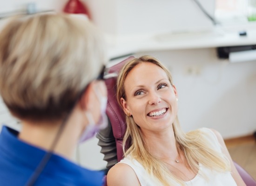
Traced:
<path fill-rule="evenodd" d="M 90 19 L 88 8 L 80 0 L 68 0 L 63 11 L 65 13 L 82 13 L 86 14 Z"/>

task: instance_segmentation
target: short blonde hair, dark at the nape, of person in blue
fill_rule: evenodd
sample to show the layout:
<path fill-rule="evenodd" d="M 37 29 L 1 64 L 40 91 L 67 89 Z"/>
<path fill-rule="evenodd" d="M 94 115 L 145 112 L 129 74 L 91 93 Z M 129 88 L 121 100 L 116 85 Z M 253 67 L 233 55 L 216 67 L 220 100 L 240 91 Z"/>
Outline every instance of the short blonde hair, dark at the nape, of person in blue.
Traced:
<path fill-rule="evenodd" d="M 18 17 L 0 32 L 0 95 L 21 120 L 60 119 L 105 62 L 101 33 L 88 20 Z"/>

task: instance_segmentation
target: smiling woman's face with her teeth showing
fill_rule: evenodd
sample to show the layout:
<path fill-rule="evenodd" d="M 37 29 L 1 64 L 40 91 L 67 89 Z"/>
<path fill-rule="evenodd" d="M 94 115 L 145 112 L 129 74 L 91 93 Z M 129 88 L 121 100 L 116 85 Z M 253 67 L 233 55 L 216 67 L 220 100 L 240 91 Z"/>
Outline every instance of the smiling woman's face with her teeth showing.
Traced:
<path fill-rule="evenodd" d="M 124 82 L 121 104 L 143 131 L 162 131 L 175 121 L 177 92 L 165 71 L 152 63 L 136 65 Z"/>

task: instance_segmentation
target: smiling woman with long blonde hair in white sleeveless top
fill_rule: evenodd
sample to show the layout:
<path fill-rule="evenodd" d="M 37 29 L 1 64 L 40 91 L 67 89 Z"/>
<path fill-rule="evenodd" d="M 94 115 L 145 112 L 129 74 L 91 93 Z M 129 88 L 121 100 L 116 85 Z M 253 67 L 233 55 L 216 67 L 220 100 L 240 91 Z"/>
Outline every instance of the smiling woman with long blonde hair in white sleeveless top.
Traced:
<path fill-rule="evenodd" d="M 126 114 L 123 144 L 131 145 L 109 170 L 108 186 L 245 186 L 217 131 L 182 131 L 177 90 L 156 58 L 142 56 L 122 67 L 117 101 Z"/>

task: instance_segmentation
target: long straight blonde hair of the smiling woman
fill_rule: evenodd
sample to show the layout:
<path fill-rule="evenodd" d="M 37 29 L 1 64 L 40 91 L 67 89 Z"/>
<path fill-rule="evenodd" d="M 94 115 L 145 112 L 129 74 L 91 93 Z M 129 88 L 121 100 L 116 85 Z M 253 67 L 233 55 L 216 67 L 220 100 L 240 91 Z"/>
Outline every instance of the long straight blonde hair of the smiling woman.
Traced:
<path fill-rule="evenodd" d="M 140 63 L 153 63 L 159 66 L 166 72 L 170 83 L 173 84 L 170 72 L 158 59 L 151 56 L 134 58 L 123 66 L 117 77 L 117 101 L 120 106 L 121 97 L 127 100 L 124 89 L 125 79 L 128 73 Z M 149 153 L 141 129 L 135 123 L 133 117 L 126 115 L 126 122 L 127 130 L 123 140 L 124 156 L 127 157 L 129 155 L 139 161 L 145 170 L 163 186 L 172 186 L 172 183 L 175 185 L 174 182 L 185 185 L 185 182 L 177 175 L 175 170 L 170 172 L 166 164 Z M 198 163 L 219 172 L 230 170 L 227 158 L 222 153 L 217 152 L 215 148 L 209 146 L 208 135 L 204 134 L 201 130 L 194 130 L 187 134 L 184 133 L 180 127 L 178 117 L 176 117 L 173 123 L 173 128 L 177 146 L 184 153 L 187 160 L 186 164 L 194 173 L 197 173 L 199 170 Z"/>

